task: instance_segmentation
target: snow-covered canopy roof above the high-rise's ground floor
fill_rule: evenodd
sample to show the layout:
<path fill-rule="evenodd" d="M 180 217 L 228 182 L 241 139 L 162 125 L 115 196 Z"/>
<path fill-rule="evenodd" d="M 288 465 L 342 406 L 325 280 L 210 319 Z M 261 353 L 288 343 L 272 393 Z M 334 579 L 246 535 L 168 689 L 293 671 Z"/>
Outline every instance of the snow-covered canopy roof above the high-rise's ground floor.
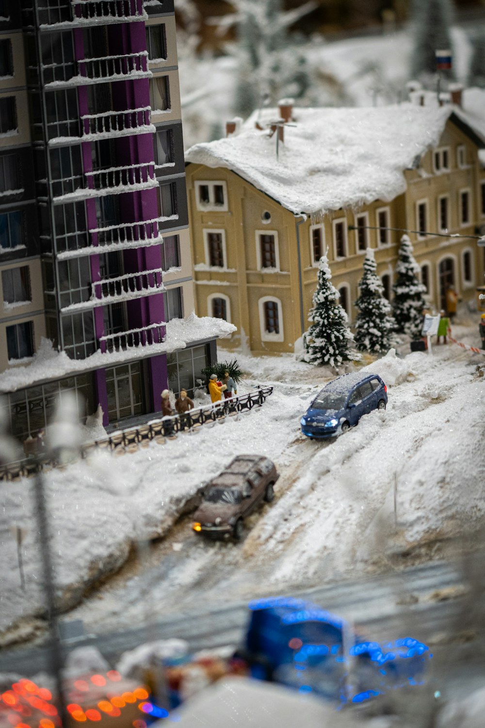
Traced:
<path fill-rule="evenodd" d="M 223 319 L 198 317 L 192 313 L 187 319 L 172 319 L 165 324 L 167 336 L 161 344 L 129 347 L 119 352 L 97 351 L 86 359 L 70 359 L 65 352 L 52 348 L 49 339 L 42 339 L 32 363 L 7 369 L 0 374 L 0 392 L 15 392 L 47 379 L 60 379 L 69 374 L 92 371 L 124 361 L 167 354 L 185 349 L 196 341 L 207 341 L 236 331 L 236 326 Z"/>

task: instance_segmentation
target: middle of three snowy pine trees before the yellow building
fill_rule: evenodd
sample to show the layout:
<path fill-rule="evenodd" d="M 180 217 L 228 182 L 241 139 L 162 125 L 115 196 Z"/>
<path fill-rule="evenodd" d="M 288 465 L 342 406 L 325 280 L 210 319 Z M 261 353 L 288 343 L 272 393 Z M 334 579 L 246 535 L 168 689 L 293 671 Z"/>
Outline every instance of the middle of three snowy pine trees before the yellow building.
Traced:
<path fill-rule="evenodd" d="M 390 303 L 384 296 L 384 286 L 376 273 L 374 250 L 367 248 L 364 275 L 358 284 L 356 300 L 358 314 L 354 341 L 360 352 L 387 352 L 395 339 L 396 322 L 390 315 Z"/>

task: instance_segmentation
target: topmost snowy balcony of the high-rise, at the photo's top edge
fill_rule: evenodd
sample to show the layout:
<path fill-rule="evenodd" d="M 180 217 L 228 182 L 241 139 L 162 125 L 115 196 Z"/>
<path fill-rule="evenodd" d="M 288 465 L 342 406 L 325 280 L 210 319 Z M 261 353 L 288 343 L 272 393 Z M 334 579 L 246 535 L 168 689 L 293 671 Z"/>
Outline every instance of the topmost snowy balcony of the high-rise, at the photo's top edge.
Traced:
<path fill-rule="evenodd" d="M 132 23 L 147 20 L 143 0 L 58 0 L 57 4 L 39 7 L 41 30 L 56 25 L 57 28 L 79 28 L 87 25 Z M 32 7 L 23 7 L 24 23 L 33 25 Z"/>

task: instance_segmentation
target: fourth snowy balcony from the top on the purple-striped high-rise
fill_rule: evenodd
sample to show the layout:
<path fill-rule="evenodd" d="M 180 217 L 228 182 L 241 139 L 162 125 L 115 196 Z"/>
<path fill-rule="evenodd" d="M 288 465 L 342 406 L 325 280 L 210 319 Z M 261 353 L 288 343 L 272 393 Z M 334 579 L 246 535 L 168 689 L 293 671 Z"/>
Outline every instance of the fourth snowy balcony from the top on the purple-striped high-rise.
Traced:
<path fill-rule="evenodd" d="M 53 197 L 54 202 L 75 202 L 76 200 L 102 197 L 106 194 L 123 194 L 140 189 L 158 187 L 155 175 L 155 162 L 142 162 L 127 167 L 109 167 L 84 173 L 85 186 L 79 186 L 79 175 L 65 177 L 62 189 L 73 189 Z M 77 189 L 75 189 L 77 187 Z"/>

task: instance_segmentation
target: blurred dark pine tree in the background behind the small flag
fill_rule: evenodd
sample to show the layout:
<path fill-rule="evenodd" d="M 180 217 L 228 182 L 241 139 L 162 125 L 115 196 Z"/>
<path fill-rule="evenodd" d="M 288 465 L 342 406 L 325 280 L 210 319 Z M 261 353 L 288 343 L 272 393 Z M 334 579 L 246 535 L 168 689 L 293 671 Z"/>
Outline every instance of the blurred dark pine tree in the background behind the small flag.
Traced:
<path fill-rule="evenodd" d="M 414 0 L 412 12 L 414 49 L 413 78 L 436 74 L 436 50 L 452 49 L 451 0 Z"/>

